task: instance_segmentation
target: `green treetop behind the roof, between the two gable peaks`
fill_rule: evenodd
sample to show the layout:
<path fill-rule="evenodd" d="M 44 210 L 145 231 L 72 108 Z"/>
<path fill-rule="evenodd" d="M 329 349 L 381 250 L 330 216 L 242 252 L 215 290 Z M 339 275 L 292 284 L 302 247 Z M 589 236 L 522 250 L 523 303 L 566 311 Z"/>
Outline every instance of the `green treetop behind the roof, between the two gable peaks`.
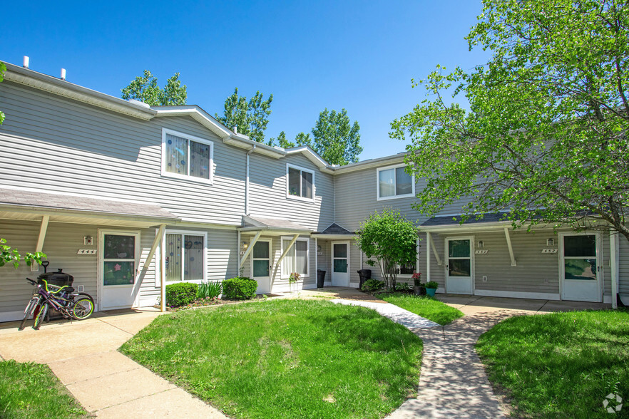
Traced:
<path fill-rule="evenodd" d="M 238 95 L 238 88 L 235 88 L 234 93 L 225 99 L 223 116 L 215 114 L 215 118 L 230 130 L 237 127 L 239 134 L 264 143 L 272 101 L 273 95 L 264 100 L 264 95 L 258 90 L 247 102 L 247 97 Z M 272 145 L 271 141 L 269 144 Z"/>

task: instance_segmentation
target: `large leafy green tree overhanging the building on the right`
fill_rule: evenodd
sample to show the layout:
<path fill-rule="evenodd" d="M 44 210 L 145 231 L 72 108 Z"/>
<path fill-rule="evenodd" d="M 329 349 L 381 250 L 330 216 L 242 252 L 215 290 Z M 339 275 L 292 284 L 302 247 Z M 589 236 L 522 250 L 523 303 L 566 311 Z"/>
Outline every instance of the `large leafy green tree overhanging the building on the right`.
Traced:
<path fill-rule="evenodd" d="M 584 229 L 600 227 L 594 215 L 629 239 L 627 2 L 484 0 L 466 39 L 491 60 L 437 66 L 420 82 L 429 98 L 392 123 L 427 181 L 416 209 L 471 196 L 468 216 L 508 209 L 516 227 Z"/>

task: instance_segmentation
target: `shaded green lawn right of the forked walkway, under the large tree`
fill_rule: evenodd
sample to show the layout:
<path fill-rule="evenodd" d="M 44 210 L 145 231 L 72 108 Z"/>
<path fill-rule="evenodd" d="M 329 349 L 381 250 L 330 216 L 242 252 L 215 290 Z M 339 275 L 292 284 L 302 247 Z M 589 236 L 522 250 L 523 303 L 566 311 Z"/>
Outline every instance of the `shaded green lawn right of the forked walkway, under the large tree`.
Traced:
<path fill-rule="evenodd" d="M 629 401 L 629 313 L 581 311 L 507 319 L 476 350 L 489 380 L 531 418 L 627 418 L 603 410 L 617 393 Z"/>

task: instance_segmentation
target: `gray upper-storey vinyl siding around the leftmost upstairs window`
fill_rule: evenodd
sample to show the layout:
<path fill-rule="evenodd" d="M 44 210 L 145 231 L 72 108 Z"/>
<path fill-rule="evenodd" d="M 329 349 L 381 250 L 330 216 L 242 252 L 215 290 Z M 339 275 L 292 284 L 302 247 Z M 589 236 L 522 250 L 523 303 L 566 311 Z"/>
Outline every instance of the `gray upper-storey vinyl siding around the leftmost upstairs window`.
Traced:
<path fill-rule="evenodd" d="M 245 152 L 190 117 L 150 122 L 5 82 L 0 103 L 4 185 L 163 206 L 186 221 L 240 224 Z M 162 128 L 212 140 L 213 185 L 161 175 Z"/>

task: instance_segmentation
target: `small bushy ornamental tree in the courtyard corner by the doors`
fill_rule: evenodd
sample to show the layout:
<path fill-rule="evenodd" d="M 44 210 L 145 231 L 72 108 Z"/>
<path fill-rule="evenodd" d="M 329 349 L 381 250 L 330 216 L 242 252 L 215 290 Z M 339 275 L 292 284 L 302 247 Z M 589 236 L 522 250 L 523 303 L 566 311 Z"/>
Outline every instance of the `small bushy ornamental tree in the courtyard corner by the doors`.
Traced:
<path fill-rule="evenodd" d="M 356 242 L 367 256 L 367 264 L 378 264 L 387 289 L 395 289 L 397 268 L 417 258 L 415 225 L 390 208 L 371 214 L 360 225 Z"/>

